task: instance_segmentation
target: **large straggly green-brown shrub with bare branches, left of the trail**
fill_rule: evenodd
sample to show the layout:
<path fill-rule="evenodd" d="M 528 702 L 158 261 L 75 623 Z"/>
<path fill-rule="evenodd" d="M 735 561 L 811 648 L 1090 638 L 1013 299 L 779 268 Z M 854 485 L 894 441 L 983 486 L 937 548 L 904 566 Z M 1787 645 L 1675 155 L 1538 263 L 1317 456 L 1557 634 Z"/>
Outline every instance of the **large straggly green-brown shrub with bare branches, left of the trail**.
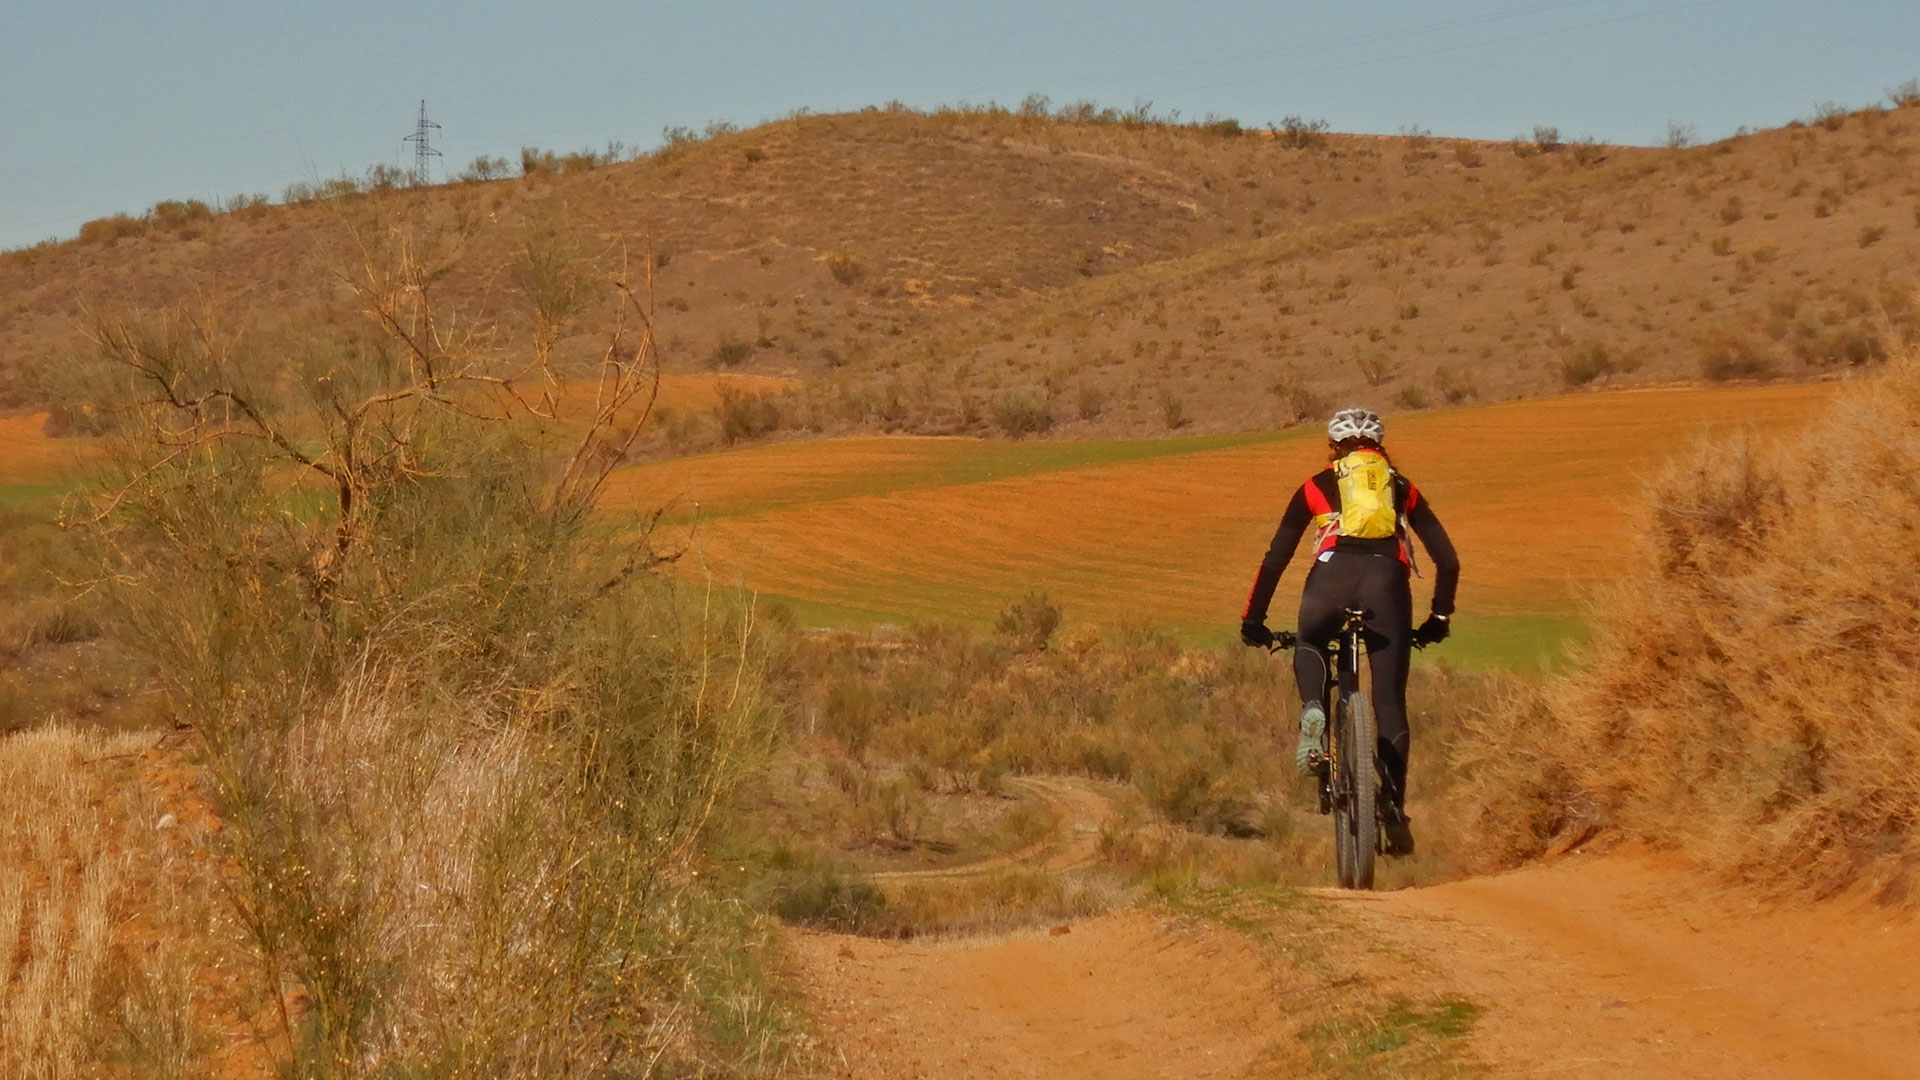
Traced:
<path fill-rule="evenodd" d="M 758 930 L 697 872 L 770 730 L 762 636 L 591 515 L 657 384 L 647 306 L 568 425 L 543 388 L 576 273 L 528 252 L 532 342 L 507 348 L 428 307 L 457 242 L 363 250 L 361 331 L 104 327 L 127 423 L 75 511 L 115 630 L 204 740 L 269 984 L 307 1001 L 278 1011 L 286 1068 L 770 1067 Z M 300 377 L 234 363 L 261 354 Z"/>

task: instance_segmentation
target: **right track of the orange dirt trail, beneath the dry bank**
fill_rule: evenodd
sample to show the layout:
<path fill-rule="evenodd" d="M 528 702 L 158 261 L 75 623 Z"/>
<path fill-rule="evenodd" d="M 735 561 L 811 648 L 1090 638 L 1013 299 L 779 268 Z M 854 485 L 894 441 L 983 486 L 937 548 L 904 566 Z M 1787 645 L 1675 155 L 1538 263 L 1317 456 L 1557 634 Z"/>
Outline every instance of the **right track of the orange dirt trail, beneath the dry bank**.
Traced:
<path fill-rule="evenodd" d="M 1761 907 L 1638 851 L 1352 901 L 1488 1005 L 1503 1076 L 1920 1074 L 1920 928 Z"/>

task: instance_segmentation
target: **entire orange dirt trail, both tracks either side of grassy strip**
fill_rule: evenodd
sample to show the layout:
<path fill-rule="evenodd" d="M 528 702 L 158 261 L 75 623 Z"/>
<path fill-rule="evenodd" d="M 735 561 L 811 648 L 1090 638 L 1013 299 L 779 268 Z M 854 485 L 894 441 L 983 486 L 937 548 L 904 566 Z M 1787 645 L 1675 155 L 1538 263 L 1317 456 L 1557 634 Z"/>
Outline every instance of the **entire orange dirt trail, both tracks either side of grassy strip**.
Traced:
<path fill-rule="evenodd" d="M 1321 894 L 1373 942 L 1382 992 L 1484 1007 L 1494 1076 L 1920 1074 L 1920 926 L 1862 901 L 1763 907 L 1644 851 L 1396 894 Z M 1129 911 L 1069 934 L 887 944 L 797 932 L 841 1074 L 1296 1074 L 1275 988 L 1238 934 Z"/>

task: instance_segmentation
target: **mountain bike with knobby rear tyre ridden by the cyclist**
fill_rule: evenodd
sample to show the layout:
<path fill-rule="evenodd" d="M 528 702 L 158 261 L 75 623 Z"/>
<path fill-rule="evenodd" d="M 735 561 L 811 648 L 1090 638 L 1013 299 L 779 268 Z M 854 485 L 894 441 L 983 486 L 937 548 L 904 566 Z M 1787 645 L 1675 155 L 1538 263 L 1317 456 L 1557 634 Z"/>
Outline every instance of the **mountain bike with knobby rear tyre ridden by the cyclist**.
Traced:
<path fill-rule="evenodd" d="M 1386 803 L 1380 798 L 1380 738 L 1373 715 L 1371 671 L 1361 630 L 1367 613 L 1346 609 L 1340 632 L 1327 644 L 1327 732 L 1321 749 L 1309 757 L 1319 776 L 1319 811 L 1332 815 L 1334 869 L 1340 888 L 1371 890 L 1373 857 L 1386 849 L 1382 828 Z M 1273 636 L 1273 651 L 1292 651 L 1296 636 Z"/>

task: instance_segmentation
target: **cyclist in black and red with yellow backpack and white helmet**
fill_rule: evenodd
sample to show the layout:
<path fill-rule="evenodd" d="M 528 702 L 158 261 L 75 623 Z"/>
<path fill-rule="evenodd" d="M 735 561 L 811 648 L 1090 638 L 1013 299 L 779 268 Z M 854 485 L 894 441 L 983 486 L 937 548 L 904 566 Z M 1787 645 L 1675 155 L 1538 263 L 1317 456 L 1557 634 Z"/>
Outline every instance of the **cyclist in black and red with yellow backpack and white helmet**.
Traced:
<path fill-rule="evenodd" d="M 1407 788 L 1407 659 L 1413 646 L 1444 642 L 1453 615 L 1459 557 L 1413 480 L 1394 471 L 1380 440 L 1386 425 L 1369 409 L 1340 409 L 1327 423 L 1331 465 L 1308 477 L 1281 515 L 1267 557 L 1260 561 L 1254 590 L 1240 613 L 1240 640 L 1271 646 L 1267 605 L 1281 573 L 1308 528 L 1313 567 L 1300 596 L 1300 634 L 1294 644 L 1294 678 L 1300 684 L 1300 746 L 1294 765 L 1311 774 L 1313 757 L 1327 732 L 1327 644 L 1338 636 L 1342 613 L 1367 613 L 1363 638 L 1373 667 L 1373 701 L 1380 724 L 1384 796 L 1390 803 L 1386 853 L 1411 855 L 1413 830 L 1405 815 Z M 1419 536 L 1434 563 L 1432 613 L 1413 628 L 1413 550 Z"/>

